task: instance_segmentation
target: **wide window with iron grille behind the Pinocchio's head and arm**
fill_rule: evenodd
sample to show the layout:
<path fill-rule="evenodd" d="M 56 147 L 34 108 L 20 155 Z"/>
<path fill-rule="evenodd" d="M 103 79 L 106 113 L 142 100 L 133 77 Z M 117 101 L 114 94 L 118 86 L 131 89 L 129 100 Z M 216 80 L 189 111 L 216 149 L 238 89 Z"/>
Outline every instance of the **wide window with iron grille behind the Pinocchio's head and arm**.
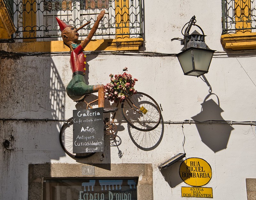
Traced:
<path fill-rule="evenodd" d="M 106 14 L 93 39 L 142 37 L 142 0 L 14 0 L 14 26 L 12 39 L 18 41 L 61 40 L 55 17 L 79 30 L 83 40 L 90 32 L 102 9 Z"/>

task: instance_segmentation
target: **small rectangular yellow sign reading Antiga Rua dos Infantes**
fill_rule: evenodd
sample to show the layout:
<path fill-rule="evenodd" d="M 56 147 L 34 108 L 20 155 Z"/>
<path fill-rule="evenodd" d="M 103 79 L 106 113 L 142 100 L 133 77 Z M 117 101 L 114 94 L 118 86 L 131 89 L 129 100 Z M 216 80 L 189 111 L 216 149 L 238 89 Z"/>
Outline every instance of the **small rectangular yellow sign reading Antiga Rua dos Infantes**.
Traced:
<path fill-rule="evenodd" d="M 212 188 L 198 188 L 198 187 L 181 187 L 181 196 L 213 198 Z"/>

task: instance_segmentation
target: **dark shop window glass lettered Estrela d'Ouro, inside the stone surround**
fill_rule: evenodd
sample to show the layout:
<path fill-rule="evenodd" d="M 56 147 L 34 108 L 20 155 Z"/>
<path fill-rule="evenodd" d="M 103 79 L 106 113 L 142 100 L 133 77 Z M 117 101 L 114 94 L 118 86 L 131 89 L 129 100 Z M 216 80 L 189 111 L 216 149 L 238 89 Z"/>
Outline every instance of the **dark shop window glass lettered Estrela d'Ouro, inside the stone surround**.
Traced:
<path fill-rule="evenodd" d="M 137 199 L 138 179 L 44 180 L 43 200 Z"/>

